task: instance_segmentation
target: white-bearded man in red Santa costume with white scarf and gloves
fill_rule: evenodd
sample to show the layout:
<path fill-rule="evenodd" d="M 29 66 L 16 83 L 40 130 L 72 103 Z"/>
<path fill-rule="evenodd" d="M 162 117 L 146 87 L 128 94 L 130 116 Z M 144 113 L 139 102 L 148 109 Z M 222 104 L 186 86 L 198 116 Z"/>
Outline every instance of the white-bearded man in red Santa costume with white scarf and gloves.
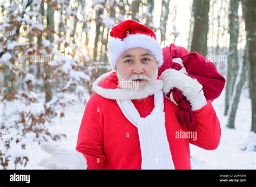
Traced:
<path fill-rule="evenodd" d="M 44 142 L 41 148 L 52 157 L 39 164 L 50 169 L 191 169 L 189 143 L 213 150 L 220 141 L 219 120 L 203 86 L 175 69 L 158 76 L 163 52 L 150 28 L 126 20 L 110 35 L 113 71 L 93 83 L 96 93 L 86 104 L 76 150 Z M 173 88 L 189 102 L 196 126 L 179 123 L 179 106 L 167 97 Z"/>

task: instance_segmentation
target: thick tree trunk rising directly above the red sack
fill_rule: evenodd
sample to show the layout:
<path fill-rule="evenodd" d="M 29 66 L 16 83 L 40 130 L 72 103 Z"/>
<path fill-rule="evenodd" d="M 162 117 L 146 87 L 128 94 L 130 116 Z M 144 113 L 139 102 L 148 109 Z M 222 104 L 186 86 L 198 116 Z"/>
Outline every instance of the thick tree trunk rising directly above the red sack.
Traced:
<path fill-rule="evenodd" d="M 198 52 L 203 56 L 207 54 L 207 33 L 208 33 L 208 13 L 210 0 L 194 0 L 194 30 L 191 44 L 191 52 Z"/>

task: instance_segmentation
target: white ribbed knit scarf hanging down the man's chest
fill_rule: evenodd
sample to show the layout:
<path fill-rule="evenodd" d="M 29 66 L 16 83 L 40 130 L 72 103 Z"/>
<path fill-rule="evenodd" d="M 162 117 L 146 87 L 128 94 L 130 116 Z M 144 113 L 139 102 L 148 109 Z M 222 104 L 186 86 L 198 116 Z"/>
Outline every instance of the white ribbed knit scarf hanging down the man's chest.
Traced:
<path fill-rule="evenodd" d="M 140 117 L 131 100 L 117 100 L 117 104 L 124 116 L 138 128 L 142 169 L 174 169 L 165 130 L 163 91 L 154 94 L 154 108 L 145 118 Z"/>

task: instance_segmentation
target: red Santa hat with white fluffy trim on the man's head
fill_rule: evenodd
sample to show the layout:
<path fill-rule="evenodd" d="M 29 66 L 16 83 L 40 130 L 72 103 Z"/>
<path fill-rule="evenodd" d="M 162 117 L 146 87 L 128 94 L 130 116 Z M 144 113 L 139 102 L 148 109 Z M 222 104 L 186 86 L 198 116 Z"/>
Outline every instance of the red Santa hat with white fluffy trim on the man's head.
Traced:
<path fill-rule="evenodd" d="M 114 26 L 110 32 L 112 37 L 107 44 L 110 51 L 110 65 L 116 69 L 117 60 L 129 48 L 142 47 L 148 49 L 156 57 L 158 67 L 163 64 L 163 52 L 156 40 L 154 32 L 145 25 L 133 20 L 126 20 Z"/>

